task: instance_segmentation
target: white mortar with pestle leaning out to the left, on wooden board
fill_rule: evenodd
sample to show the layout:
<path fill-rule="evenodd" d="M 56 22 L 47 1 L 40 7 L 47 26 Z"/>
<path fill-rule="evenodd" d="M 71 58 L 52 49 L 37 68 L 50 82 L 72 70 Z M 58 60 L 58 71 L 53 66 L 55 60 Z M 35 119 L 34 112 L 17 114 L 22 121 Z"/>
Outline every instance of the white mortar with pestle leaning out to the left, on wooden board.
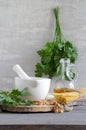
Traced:
<path fill-rule="evenodd" d="M 15 88 L 23 90 L 28 88 L 31 96 L 28 96 L 27 99 L 30 100 L 44 100 L 48 95 L 50 89 L 51 79 L 43 77 L 30 77 L 20 65 L 13 66 L 13 70 L 17 73 L 19 77 L 15 77 Z"/>

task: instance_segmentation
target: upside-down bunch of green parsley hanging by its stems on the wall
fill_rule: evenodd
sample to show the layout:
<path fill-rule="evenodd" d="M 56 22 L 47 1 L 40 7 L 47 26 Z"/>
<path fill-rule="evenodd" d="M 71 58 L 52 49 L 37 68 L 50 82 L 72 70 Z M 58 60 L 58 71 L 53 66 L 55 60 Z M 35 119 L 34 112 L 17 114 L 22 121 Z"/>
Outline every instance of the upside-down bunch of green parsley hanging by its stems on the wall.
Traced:
<path fill-rule="evenodd" d="M 36 64 L 35 76 L 42 77 L 47 75 L 49 78 L 61 76 L 62 67 L 60 60 L 66 58 L 70 63 L 75 64 L 78 53 L 76 47 L 64 38 L 59 22 L 59 8 L 54 9 L 56 19 L 56 29 L 54 40 L 46 43 L 44 48 L 37 51 L 41 61 Z M 74 79 L 75 73 L 71 70 L 71 78 Z"/>

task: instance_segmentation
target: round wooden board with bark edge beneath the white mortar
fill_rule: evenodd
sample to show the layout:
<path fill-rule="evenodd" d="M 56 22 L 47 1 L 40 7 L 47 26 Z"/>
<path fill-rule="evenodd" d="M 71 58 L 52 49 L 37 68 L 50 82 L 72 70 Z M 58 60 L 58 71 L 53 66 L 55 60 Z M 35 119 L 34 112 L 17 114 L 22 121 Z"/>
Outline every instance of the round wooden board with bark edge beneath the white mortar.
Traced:
<path fill-rule="evenodd" d="M 17 106 L 8 108 L 2 106 L 2 110 L 8 112 L 50 112 L 53 110 L 54 105 L 33 105 L 33 106 Z"/>

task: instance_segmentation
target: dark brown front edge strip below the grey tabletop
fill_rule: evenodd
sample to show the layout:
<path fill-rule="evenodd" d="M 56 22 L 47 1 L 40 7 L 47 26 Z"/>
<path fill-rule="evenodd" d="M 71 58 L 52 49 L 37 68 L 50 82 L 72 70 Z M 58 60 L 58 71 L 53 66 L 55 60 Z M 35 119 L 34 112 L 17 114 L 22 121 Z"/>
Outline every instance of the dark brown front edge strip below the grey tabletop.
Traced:
<path fill-rule="evenodd" d="M 86 125 L 2 125 L 0 130 L 85 130 Z"/>

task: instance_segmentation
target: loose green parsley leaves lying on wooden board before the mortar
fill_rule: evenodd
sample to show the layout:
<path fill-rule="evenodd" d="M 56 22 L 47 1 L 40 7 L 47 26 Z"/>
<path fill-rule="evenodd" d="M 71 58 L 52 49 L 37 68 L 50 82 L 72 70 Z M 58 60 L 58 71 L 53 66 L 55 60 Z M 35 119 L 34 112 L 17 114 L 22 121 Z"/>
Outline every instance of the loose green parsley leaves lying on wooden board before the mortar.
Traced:
<path fill-rule="evenodd" d="M 0 91 L 0 105 L 7 106 L 9 108 L 21 105 L 33 105 L 32 101 L 25 99 L 26 96 L 30 96 L 27 88 L 22 91 L 19 91 L 18 89 L 13 89 L 11 92 Z"/>

